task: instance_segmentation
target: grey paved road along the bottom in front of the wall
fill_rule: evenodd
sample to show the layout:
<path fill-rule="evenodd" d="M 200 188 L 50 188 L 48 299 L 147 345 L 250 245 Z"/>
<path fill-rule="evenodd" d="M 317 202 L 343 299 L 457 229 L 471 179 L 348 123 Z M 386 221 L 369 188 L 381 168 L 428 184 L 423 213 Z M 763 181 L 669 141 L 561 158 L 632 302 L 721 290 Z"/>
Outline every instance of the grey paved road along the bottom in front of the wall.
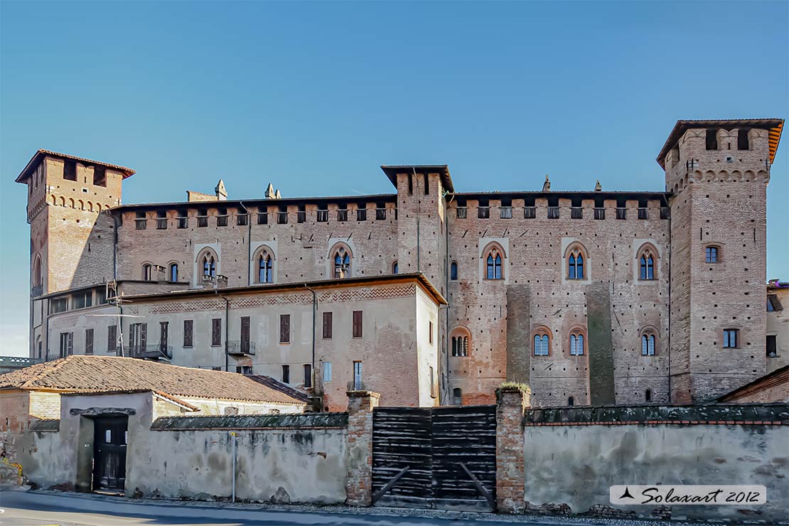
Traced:
<path fill-rule="evenodd" d="M 447 520 L 357 513 L 320 513 L 227 506 L 151 504 L 99 495 L 0 492 L 2 526 L 444 526 L 502 524 L 488 520 Z M 531 523 L 531 526 L 538 526 Z M 552 526 L 555 526 L 552 525 Z"/>

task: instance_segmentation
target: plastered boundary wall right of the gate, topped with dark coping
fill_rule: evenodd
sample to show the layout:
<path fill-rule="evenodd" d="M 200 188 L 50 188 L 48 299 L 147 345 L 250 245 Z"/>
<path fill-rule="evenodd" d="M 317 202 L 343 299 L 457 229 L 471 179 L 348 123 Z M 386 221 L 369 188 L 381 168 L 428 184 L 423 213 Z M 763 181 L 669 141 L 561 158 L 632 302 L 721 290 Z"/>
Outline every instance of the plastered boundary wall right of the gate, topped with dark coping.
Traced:
<path fill-rule="evenodd" d="M 787 520 L 789 406 L 527 410 L 527 513 Z M 766 505 L 610 505 L 618 484 L 757 484 Z"/>

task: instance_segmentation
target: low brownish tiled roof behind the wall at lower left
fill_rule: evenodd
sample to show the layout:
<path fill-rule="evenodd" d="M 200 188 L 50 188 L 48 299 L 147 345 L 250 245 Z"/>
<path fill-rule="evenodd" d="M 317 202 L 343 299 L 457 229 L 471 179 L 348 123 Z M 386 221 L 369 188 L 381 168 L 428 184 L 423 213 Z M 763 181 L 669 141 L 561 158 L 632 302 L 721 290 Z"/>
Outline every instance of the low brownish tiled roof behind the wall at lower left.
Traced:
<path fill-rule="evenodd" d="M 264 384 L 237 373 L 119 356 L 75 355 L 25 367 L 0 375 L 0 389 L 4 387 L 76 393 L 151 390 L 172 397 L 304 404 L 275 380 Z"/>

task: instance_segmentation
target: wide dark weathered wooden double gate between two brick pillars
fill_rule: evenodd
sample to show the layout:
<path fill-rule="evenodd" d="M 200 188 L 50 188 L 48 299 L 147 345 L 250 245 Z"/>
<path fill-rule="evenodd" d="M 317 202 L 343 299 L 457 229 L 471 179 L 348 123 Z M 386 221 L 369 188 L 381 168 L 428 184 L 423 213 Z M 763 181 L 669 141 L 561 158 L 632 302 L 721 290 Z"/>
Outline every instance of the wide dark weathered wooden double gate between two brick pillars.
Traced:
<path fill-rule="evenodd" d="M 375 408 L 372 503 L 495 509 L 495 405 Z"/>

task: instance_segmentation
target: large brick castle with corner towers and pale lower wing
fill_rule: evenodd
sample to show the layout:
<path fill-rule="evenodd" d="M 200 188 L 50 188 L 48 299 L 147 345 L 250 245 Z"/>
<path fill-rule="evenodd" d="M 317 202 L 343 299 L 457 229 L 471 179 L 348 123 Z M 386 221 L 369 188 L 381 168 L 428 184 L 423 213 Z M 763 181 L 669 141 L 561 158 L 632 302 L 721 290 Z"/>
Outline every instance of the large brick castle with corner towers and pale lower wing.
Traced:
<path fill-rule="evenodd" d="M 40 150 L 31 357 L 121 354 L 271 375 L 342 409 L 689 403 L 769 370 L 766 192 L 781 119 L 678 121 L 664 192 L 396 192 L 122 204 L 134 171 Z M 773 367 L 774 368 L 774 367 Z"/>

